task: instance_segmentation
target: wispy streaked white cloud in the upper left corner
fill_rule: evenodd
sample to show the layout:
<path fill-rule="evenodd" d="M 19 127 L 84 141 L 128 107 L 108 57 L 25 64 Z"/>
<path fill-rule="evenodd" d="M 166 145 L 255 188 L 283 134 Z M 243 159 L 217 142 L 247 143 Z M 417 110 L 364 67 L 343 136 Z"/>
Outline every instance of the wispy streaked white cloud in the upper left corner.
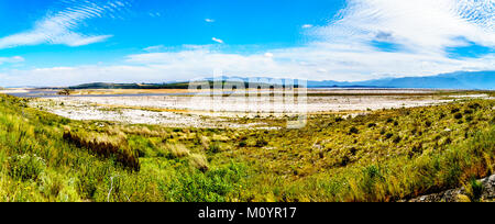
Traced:
<path fill-rule="evenodd" d="M 123 1 L 66 1 L 65 9 L 48 12 L 34 23 L 30 31 L 0 38 L 0 48 L 11 48 L 25 45 L 62 44 L 67 46 L 82 46 L 103 42 L 112 35 L 88 35 L 77 32 L 81 23 L 87 20 L 111 16 L 128 4 Z"/>

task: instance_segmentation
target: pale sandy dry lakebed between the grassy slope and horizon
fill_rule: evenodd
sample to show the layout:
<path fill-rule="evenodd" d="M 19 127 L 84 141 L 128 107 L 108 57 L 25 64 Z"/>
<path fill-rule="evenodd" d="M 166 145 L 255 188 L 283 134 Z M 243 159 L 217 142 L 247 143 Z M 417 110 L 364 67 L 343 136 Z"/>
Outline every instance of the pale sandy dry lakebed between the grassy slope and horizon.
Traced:
<path fill-rule="evenodd" d="M 488 98 L 487 94 L 479 92 L 410 89 L 310 89 L 302 100 L 298 97 L 288 100 L 276 99 L 270 94 L 245 98 L 174 94 L 170 90 L 167 92 L 172 94 L 45 97 L 31 100 L 30 104 L 72 120 L 158 124 L 170 127 L 270 128 L 263 122 L 246 124 L 238 120 L 279 119 L 302 113 L 355 115 L 382 109 L 435 105 L 465 98 Z"/>

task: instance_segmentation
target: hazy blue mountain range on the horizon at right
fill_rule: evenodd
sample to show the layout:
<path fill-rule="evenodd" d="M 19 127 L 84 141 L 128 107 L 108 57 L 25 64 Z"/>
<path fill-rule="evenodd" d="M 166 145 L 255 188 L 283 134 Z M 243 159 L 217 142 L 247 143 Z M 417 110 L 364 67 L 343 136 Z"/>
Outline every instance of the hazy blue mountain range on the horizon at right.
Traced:
<path fill-rule="evenodd" d="M 495 71 L 459 71 L 427 77 L 375 79 L 356 82 L 308 81 L 308 87 L 374 87 L 422 89 L 484 89 L 495 90 Z"/>

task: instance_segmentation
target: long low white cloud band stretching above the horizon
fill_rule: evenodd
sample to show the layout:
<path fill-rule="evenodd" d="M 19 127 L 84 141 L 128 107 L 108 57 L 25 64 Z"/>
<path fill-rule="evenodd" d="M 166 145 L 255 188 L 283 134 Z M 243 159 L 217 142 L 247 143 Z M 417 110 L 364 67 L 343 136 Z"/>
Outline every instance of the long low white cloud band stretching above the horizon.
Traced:
<path fill-rule="evenodd" d="M 329 52 L 332 48 L 339 53 Z M 266 57 L 265 54 L 224 54 L 208 47 L 147 53 L 128 56 L 124 65 L 11 70 L 0 76 L 0 86 L 68 86 L 95 81 L 183 81 L 211 77 L 216 69 L 222 69 L 226 76 L 353 81 L 495 68 L 493 55 L 461 60 L 407 53 L 366 55 L 340 51 L 339 46 L 315 44 L 274 51 L 272 54 L 277 55 L 276 59 Z"/>

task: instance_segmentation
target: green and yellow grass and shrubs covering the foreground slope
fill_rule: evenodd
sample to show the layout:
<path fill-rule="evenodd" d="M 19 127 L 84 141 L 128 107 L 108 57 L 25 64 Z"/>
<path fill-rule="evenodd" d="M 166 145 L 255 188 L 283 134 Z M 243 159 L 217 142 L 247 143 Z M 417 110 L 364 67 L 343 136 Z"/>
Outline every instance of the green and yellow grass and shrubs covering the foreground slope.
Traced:
<path fill-rule="evenodd" d="M 0 96 L 0 201 L 397 201 L 462 186 L 476 201 L 495 168 L 494 107 L 210 130 L 70 121 Z"/>

